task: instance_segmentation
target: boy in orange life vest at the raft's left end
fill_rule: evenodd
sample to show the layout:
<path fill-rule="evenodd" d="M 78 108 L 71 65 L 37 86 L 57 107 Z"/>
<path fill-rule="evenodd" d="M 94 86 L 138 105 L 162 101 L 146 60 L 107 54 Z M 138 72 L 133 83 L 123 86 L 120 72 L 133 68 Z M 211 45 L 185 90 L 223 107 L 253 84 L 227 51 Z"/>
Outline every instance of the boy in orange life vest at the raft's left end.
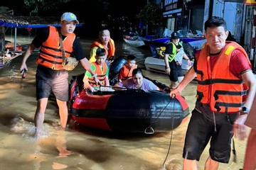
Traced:
<path fill-rule="evenodd" d="M 85 72 L 85 77 L 82 80 L 84 83 L 84 89 L 89 89 L 95 92 L 100 89 L 100 86 L 110 86 L 108 79 L 109 68 L 105 62 L 107 56 L 106 51 L 103 48 L 97 48 L 95 55 L 95 62 L 91 62 L 91 67 L 95 75 L 90 74 L 90 72 Z M 100 80 L 100 84 L 96 84 L 94 77 Z"/>

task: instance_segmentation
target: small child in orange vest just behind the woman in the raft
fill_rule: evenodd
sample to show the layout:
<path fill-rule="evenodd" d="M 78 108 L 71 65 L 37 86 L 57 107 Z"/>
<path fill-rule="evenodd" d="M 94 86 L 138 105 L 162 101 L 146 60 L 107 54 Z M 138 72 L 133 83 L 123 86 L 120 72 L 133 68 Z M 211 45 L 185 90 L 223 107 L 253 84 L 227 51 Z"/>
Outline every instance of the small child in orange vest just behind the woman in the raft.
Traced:
<path fill-rule="evenodd" d="M 135 61 L 136 57 L 134 55 L 128 55 L 127 56 L 127 63 L 124 64 L 122 69 L 120 70 L 118 74 L 118 81 L 122 82 L 126 79 L 132 78 L 132 71 L 134 69 L 137 69 L 137 64 Z"/>

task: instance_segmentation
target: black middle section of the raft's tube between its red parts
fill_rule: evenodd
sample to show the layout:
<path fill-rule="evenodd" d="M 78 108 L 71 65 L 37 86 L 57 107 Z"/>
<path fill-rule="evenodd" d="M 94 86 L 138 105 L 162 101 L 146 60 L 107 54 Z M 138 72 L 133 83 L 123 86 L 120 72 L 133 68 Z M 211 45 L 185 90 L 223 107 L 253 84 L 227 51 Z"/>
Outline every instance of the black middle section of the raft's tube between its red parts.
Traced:
<path fill-rule="evenodd" d="M 172 130 L 189 114 L 177 98 L 163 92 L 117 94 L 110 97 L 106 109 L 110 128 L 127 132 L 144 132 L 149 126 L 155 132 Z"/>

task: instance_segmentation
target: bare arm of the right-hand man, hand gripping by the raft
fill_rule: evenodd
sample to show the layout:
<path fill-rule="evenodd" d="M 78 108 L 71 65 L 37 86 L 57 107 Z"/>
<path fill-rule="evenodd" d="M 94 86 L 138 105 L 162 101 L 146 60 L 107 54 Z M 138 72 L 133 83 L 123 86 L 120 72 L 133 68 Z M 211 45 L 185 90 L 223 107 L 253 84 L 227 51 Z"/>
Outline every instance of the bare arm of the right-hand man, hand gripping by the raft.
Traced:
<path fill-rule="evenodd" d="M 193 79 L 195 79 L 195 77 L 196 77 L 196 72 L 195 72 L 194 68 L 191 67 L 188 70 L 188 72 L 185 74 L 185 77 L 183 78 L 181 83 L 178 84 L 177 88 L 171 90 L 171 92 L 170 92 L 171 98 L 174 98 L 176 96 L 176 94 L 181 93 L 181 91 L 183 91 L 183 89 L 186 87 L 186 85 L 188 85 L 188 83 L 190 83 Z"/>

